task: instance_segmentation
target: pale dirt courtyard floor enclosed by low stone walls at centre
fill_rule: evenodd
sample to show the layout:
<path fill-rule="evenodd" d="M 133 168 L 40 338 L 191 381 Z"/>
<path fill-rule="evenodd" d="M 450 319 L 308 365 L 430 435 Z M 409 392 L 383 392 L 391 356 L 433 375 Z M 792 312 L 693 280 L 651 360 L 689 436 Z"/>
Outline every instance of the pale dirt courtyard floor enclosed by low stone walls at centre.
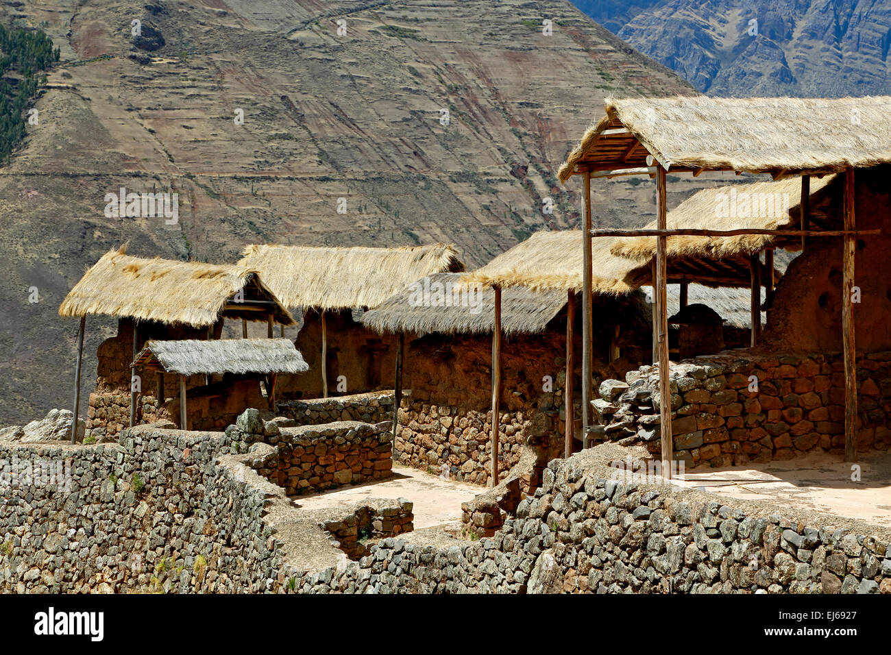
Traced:
<path fill-rule="evenodd" d="M 482 494 L 486 487 L 444 479 L 417 469 L 393 467 L 393 477 L 380 482 L 340 487 L 323 494 L 293 497 L 307 510 L 348 507 L 363 498 L 407 498 L 414 504 L 414 529 L 445 526 L 460 528 L 461 504 Z"/>

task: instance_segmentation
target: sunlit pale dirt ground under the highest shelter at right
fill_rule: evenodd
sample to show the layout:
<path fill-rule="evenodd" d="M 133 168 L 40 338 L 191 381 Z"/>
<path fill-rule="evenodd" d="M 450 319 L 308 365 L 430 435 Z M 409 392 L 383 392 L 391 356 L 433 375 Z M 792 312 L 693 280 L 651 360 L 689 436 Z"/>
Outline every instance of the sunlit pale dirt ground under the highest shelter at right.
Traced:
<path fill-rule="evenodd" d="M 858 465 L 859 480 L 853 464 L 842 462 L 841 454 L 821 453 L 757 468 L 693 469 L 675 481 L 733 498 L 891 526 L 891 454 L 862 454 Z"/>

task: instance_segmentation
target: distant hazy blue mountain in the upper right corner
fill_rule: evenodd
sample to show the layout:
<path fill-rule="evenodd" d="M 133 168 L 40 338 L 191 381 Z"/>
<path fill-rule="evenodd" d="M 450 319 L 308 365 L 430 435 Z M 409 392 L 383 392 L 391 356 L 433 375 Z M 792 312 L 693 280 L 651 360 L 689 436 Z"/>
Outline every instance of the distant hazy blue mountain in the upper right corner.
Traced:
<path fill-rule="evenodd" d="M 709 95 L 891 94 L 887 0 L 576 0 Z"/>

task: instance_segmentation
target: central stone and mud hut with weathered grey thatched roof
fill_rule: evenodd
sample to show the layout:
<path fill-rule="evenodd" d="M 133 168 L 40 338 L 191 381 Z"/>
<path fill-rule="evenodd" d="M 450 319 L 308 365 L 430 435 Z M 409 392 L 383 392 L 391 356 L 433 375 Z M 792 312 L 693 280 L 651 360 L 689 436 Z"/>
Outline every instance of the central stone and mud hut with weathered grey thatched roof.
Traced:
<path fill-rule="evenodd" d="M 477 272 L 431 275 L 363 316 L 376 332 L 405 335 L 403 386 L 410 390 L 402 398 L 396 429 L 398 461 L 478 484 L 492 482 L 495 291 L 483 277 L 506 258 L 525 258 L 555 240 L 573 239 L 579 241 L 578 233 L 535 234 Z M 541 286 L 532 288 L 529 275 L 523 278 L 529 285 L 514 283 L 500 293 L 498 479 L 521 464 L 527 488 L 537 486 L 537 472 L 564 452 L 568 355 L 575 382 L 569 389 L 577 385 L 582 358 L 581 342 L 573 336 L 581 332 L 581 317 L 574 311 L 577 275 L 561 277 L 561 265 L 553 258 L 534 268 L 550 275 L 539 281 Z M 639 295 L 615 288 L 617 293 L 597 299 L 593 359 L 603 378 L 649 361 L 649 309 Z M 571 393 L 569 398 L 577 405 Z M 577 408 L 570 412 L 578 415 Z M 577 450 L 580 424 L 570 422 L 569 441 Z"/>

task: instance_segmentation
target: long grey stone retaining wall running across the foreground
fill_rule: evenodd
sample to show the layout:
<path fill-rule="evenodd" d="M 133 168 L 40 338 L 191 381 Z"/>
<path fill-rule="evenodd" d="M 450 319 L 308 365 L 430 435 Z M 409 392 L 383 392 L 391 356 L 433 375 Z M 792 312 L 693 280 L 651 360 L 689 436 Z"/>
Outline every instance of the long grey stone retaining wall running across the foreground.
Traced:
<path fill-rule="evenodd" d="M 116 445 L 0 445 L 71 463 L 64 489 L 7 483 L 0 590 L 891 594 L 887 529 L 613 479 L 601 449 L 624 451 L 609 444 L 549 463 L 495 536 L 408 533 L 349 561 L 254 471 L 268 445 L 234 436 L 140 426 Z"/>

